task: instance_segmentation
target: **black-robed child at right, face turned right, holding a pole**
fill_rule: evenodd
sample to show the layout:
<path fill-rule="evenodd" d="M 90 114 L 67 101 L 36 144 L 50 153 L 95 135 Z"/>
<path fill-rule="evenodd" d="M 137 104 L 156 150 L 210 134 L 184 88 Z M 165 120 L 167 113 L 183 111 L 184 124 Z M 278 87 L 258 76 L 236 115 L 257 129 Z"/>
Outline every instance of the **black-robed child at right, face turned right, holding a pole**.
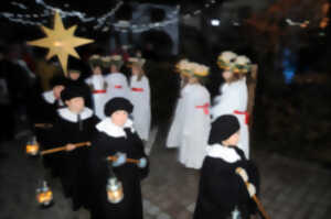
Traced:
<path fill-rule="evenodd" d="M 212 123 L 207 155 L 203 162 L 194 219 L 248 219 L 255 213 L 252 197 L 259 186 L 258 171 L 236 146 L 236 117 L 225 114 Z M 247 187 L 245 182 L 248 182 Z"/>

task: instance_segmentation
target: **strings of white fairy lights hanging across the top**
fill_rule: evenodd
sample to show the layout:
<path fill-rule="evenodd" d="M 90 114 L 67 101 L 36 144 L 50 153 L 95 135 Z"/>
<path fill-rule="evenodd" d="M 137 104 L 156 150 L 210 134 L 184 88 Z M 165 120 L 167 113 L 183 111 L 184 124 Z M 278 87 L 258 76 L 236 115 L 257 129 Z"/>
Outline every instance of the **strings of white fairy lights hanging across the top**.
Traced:
<path fill-rule="evenodd" d="M 213 4 L 217 3 L 216 0 L 211 0 L 204 4 L 203 9 L 207 9 L 213 7 Z M 193 12 L 188 12 L 185 14 L 179 15 L 180 6 L 175 7 L 171 13 L 167 14 L 167 19 L 161 22 L 150 22 L 150 23 L 135 23 L 134 21 L 116 21 L 110 22 L 110 18 L 115 15 L 115 13 L 120 9 L 124 4 L 124 1 L 118 1 L 116 6 L 107 13 L 100 17 L 88 17 L 85 12 L 81 11 L 68 11 L 61 8 L 52 7 L 47 4 L 44 0 L 35 0 L 35 4 L 43 9 L 42 13 L 28 13 L 31 11 L 30 8 L 20 2 L 11 2 L 13 7 L 22 10 L 22 13 L 11 13 L 11 12 L 0 12 L 0 17 L 8 19 L 11 22 L 21 23 L 23 25 L 43 25 L 50 21 L 50 18 L 54 15 L 54 11 L 58 11 L 62 19 L 65 18 L 77 18 L 82 23 L 92 23 L 93 29 L 96 31 L 108 32 L 110 28 L 114 28 L 116 31 L 128 32 L 131 31 L 134 33 L 145 32 L 151 29 L 164 28 L 167 25 L 180 22 L 181 20 L 188 20 L 192 17 L 195 17 L 202 12 L 203 9 L 195 10 Z M 70 8 L 70 4 L 64 4 L 64 8 Z"/>

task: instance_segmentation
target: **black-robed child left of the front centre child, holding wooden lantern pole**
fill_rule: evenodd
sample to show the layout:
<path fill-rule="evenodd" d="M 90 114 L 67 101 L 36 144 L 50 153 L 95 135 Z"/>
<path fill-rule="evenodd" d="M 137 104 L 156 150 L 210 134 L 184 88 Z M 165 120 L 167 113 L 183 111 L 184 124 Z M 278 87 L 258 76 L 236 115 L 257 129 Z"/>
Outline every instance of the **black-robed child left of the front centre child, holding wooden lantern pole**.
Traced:
<path fill-rule="evenodd" d="M 61 94 L 67 106 L 57 110 L 57 118 L 52 130 L 52 145 L 66 146 L 65 152 L 50 154 L 56 156 L 56 169 L 66 197 L 73 198 L 73 210 L 86 207 L 87 154 L 89 147 L 76 147 L 74 143 L 92 141 L 99 119 L 84 105 L 81 87 L 67 86 Z"/>

